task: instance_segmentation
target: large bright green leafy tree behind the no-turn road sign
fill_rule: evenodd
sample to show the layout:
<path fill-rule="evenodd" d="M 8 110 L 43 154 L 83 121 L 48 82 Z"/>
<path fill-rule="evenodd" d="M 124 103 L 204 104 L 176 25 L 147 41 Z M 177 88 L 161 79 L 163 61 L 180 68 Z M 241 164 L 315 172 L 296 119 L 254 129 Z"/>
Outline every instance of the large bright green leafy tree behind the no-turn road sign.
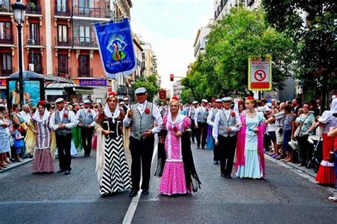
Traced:
<path fill-rule="evenodd" d="M 199 55 L 191 73 L 183 80 L 196 100 L 247 92 L 248 58 L 272 55 L 272 86 L 282 88 L 290 76 L 294 50 L 291 38 L 267 26 L 264 11 L 242 6 L 213 25 L 205 53 Z"/>

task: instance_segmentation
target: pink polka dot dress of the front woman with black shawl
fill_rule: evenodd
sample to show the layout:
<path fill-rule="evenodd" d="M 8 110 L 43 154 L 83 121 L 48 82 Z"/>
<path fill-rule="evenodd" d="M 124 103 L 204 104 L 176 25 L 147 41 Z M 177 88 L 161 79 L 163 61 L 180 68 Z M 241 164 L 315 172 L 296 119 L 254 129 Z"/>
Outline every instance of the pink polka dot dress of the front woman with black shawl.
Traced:
<path fill-rule="evenodd" d="M 171 196 L 172 194 L 190 193 L 191 186 L 186 186 L 183 157 L 181 154 L 181 137 L 176 137 L 176 132 L 185 131 L 191 125 L 191 119 L 184 116 L 181 121 L 174 124 L 163 118 L 163 128 L 167 130 L 165 139 L 166 162 L 161 176 L 159 193 Z M 176 131 L 176 132 L 175 132 Z"/>

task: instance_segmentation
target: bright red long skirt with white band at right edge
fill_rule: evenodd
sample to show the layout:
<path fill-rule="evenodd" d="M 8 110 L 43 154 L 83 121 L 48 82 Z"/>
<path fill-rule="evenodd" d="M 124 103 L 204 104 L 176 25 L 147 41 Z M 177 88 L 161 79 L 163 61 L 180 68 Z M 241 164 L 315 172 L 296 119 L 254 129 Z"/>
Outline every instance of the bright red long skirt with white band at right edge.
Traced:
<path fill-rule="evenodd" d="M 319 172 L 316 176 L 316 181 L 321 184 L 335 185 L 336 175 L 334 170 L 334 164 L 329 163 L 326 158 L 330 151 L 333 151 L 334 138 L 328 137 L 328 134 L 323 134 L 323 160 L 321 166 L 319 166 Z"/>

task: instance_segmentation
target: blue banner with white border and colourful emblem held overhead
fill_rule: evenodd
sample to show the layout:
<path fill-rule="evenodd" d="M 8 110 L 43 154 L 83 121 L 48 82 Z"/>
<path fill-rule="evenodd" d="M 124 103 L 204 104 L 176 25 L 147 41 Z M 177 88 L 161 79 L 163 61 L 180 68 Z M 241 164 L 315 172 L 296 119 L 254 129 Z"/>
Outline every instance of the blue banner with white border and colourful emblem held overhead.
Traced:
<path fill-rule="evenodd" d="M 137 68 L 129 19 L 95 23 L 100 56 L 108 78 L 130 75 Z"/>

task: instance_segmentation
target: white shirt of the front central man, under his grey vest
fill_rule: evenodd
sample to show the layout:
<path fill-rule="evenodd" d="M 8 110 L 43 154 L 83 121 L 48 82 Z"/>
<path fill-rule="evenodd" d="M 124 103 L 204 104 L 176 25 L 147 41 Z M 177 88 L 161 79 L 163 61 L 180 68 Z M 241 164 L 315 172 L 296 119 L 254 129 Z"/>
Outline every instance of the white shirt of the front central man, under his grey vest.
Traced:
<path fill-rule="evenodd" d="M 147 104 L 147 100 L 145 100 L 145 102 L 142 103 L 142 104 L 137 103 L 137 110 L 139 111 L 139 113 L 141 115 L 143 115 L 144 112 L 145 112 L 146 104 Z M 127 113 L 129 112 L 130 108 L 127 110 Z M 161 118 L 161 114 L 159 112 L 158 107 L 156 107 L 155 105 L 153 105 L 153 107 L 152 107 L 152 116 L 154 117 L 154 120 L 155 120 L 157 126 L 154 127 L 153 129 L 151 129 L 151 131 L 152 131 L 152 134 L 156 134 L 156 133 L 159 133 L 161 131 L 161 126 L 163 126 L 163 119 Z M 125 127 L 129 127 L 131 122 L 132 122 L 132 119 L 130 119 L 126 115 L 123 119 L 123 125 Z"/>

